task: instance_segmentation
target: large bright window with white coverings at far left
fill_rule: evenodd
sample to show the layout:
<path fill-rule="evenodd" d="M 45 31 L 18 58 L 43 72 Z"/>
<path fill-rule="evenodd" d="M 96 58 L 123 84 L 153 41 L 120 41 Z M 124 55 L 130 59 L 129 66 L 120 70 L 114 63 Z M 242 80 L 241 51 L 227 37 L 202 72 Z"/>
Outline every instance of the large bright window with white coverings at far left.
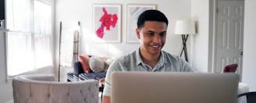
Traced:
<path fill-rule="evenodd" d="M 38 0 L 5 0 L 8 77 L 52 65 L 52 8 Z"/>

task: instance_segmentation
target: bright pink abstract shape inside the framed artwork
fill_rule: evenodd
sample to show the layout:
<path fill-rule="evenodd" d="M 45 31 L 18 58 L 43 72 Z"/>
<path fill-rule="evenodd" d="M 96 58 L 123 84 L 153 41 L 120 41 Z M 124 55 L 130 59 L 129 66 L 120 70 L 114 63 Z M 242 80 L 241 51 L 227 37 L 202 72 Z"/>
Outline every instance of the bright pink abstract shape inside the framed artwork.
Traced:
<path fill-rule="evenodd" d="M 102 8 L 104 15 L 101 16 L 101 19 L 99 19 L 99 21 L 101 22 L 101 26 L 97 29 L 96 34 L 98 37 L 100 37 L 101 39 L 104 36 L 104 29 L 106 30 L 110 30 L 110 26 L 112 26 L 112 28 L 116 27 L 116 22 L 117 22 L 117 15 L 116 14 L 108 14 L 107 10 L 105 8 Z"/>

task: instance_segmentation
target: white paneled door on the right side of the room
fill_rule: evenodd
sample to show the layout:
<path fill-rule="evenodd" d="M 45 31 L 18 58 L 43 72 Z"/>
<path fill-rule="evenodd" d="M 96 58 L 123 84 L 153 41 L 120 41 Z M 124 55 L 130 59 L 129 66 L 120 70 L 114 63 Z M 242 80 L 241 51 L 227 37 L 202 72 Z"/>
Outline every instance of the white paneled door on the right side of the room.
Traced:
<path fill-rule="evenodd" d="M 242 74 L 244 1 L 217 1 L 216 17 L 215 73 L 236 63 L 236 73 Z"/>

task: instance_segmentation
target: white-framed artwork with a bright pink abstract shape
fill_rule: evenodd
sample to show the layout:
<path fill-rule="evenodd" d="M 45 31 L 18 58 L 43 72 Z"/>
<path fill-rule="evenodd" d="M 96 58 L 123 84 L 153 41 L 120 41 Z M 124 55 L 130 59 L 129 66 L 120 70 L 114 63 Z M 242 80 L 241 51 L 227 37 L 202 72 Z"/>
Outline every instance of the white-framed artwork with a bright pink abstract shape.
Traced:
<path fill-rule="evenodd" d="M 121 5 L 93 5 L 94 43 L 121 42 Z"/>

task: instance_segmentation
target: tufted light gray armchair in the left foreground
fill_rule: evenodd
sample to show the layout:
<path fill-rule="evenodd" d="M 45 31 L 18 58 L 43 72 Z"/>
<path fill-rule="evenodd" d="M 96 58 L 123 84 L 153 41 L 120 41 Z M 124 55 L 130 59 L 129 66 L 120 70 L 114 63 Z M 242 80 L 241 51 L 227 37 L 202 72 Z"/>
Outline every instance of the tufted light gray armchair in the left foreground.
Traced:
<path fill-rule="evenodd" d="M 58 82 L 53 74 L 13 78 L 14 103 L 98 103 L 98 81 Z"/>

